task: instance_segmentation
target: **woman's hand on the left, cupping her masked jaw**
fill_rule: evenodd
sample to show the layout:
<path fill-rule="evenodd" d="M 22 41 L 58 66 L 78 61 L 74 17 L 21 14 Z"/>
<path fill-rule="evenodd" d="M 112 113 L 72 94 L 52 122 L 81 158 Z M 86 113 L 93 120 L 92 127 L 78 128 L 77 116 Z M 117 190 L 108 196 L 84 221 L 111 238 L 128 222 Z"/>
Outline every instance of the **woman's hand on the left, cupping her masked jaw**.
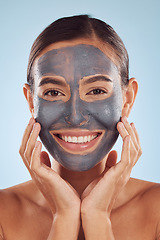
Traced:
<path fill-rule="evenodd" d="M 40 124 L 31 118 L 22 139 L 20 155 L 52 212 L 60 216 L 78 216 L 81 203 L 78 193 L 51 168 L 48 154 L 41 152 L 42 144 L 37 141 L 40 129 Z"/>

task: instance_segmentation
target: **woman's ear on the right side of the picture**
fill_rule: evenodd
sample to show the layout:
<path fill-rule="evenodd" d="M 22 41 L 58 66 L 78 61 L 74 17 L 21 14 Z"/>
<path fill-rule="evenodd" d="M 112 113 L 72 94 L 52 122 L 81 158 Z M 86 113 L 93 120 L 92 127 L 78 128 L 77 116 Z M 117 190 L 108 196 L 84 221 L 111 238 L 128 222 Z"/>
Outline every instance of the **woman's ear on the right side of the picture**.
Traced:
<path fill-rule="evenodd" d="M 122 117 L 128 117 L 138 92 L 138 82 L 135 78 L 129 80 L 128 86 L 123 90 Z"/>

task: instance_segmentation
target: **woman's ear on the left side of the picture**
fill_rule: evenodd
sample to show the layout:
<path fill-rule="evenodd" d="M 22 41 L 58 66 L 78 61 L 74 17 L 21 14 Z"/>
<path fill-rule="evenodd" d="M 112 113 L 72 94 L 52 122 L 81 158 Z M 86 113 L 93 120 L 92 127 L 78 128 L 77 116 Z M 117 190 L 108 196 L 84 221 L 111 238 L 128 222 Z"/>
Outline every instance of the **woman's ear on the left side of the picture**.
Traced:
<path fill-rule="evenodd" d="M 32 114 L 32 117 L 34 117 L 33 95 L 31 93 L 30 86 L 27 83 L 25 83 L 23 86 L 23 93 L 28 102 L 29 110 Z"/>

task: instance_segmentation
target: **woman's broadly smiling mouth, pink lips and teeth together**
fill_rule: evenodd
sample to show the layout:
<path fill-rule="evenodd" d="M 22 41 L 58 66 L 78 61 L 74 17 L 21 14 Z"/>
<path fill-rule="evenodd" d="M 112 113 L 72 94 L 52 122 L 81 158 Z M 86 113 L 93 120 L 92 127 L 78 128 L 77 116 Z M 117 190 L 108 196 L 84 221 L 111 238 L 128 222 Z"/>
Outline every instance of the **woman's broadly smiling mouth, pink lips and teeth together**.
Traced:
<path fill-rule="evenodd" d="M 91 131 L 50 131 L 56 142 L 67 152 L 84 155 L 94 151 L 100 143 L 103 132 Z"/>

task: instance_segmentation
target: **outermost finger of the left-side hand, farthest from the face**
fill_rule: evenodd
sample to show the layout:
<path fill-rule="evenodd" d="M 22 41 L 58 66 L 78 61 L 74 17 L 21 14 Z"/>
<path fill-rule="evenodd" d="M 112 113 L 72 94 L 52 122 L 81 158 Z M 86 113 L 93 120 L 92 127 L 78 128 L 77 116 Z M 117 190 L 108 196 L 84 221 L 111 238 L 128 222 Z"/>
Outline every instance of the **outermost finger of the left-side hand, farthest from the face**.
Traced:
<path fill-rule="evenodd" d="M 29 136 L 31 134 L 32 128 L 33 128 L 33 124 L 35 123 L 35 119 L 31 118 L 22 137 L 22 142 L 21 142 L 21 146 L 19 149 L 19 153 L 20 155 L 23 157 L 25 149 L 26 149 L 26 145 L 27 145 L 27 141 L 29 139 Z"/>

